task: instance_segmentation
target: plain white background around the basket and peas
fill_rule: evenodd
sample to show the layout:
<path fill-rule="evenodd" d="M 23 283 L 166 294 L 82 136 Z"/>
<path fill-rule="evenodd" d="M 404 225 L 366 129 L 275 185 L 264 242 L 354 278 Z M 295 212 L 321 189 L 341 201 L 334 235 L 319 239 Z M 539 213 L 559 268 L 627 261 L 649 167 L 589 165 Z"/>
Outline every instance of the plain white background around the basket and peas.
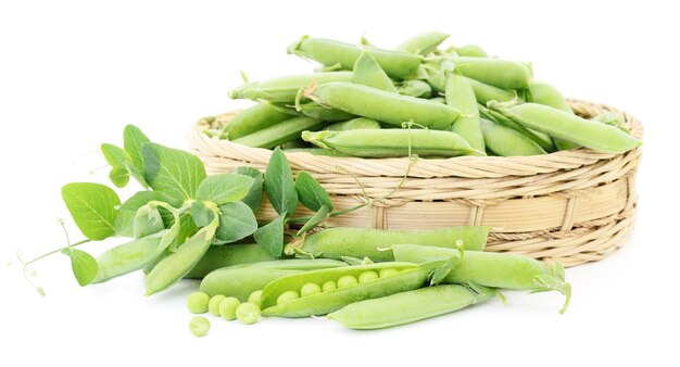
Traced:
<path fill-rule="evenodd" d="M 0 364 L 677 366 L 680 59 L 671 35 L 680 28 L 663 3 L 3 1 Z M 567 270 L 575 291 L 566 315 L 557 294 L 509 293 L 508 307 L 489 302 L 377 332 L 317 319 L 213 319 L 198 339 L 184 307 L 194 282 L 151 298 L 139 274 L 80 289 L 55 255 L 33 267 L 48 293 L 40 298 L 21 266 L 4 267 L 17 249 L 30 258 L 64 245 L 61 186 L 105 182 L 108 169 L 89 174 L 104 164 L 98 147 L 121 143 L 126 124 L 188 148 L 196 119 L 242 105 L 227 98 L 240 69 L 251 79 L 311 69 L 285 52 L 303 34 L 353 42 L 365 31 L 392 47 L 430 29 L 533 61 L 537 77 L 566 96 L 619 106 L 645 125 L 634 235 L 609 258 Z"/>

